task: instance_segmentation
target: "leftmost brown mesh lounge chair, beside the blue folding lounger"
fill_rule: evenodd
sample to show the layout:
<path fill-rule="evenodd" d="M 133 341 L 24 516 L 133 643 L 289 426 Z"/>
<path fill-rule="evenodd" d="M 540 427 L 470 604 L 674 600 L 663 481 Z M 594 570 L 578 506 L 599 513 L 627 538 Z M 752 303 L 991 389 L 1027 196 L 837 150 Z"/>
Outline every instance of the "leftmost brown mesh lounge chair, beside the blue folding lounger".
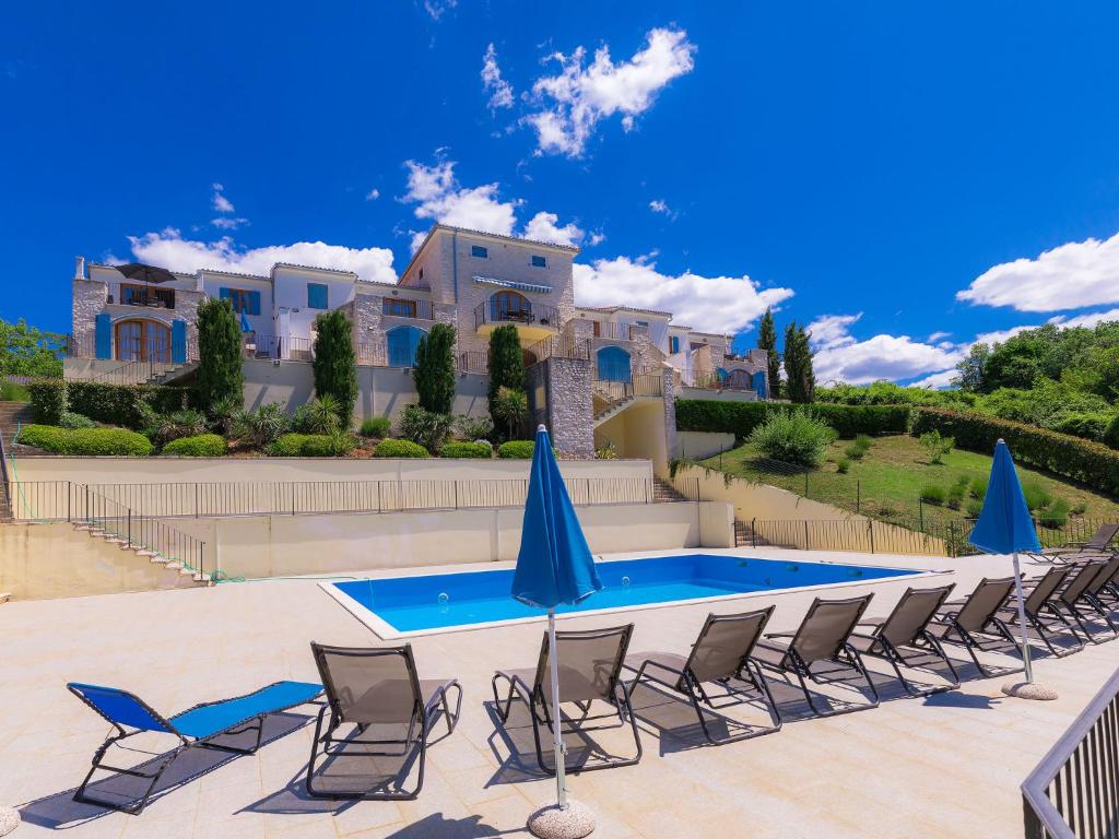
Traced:
<path fill-rule="evenodd" d="M 416 675 L 412 645 L 351 648 L 311 643 L 314 663 L 327 691 L 327 705 L 319 711 L 311 743 L 311 760 L 307 764 L 307 791 L 321 799 L 356 799 L 363 801 L 411 801 L 423 789 L 427 735 L 441 709 L 450 735 L 462 710 L 462 687 L 454 679 L 421 680 Z M 454 710 L 448 694 L 457 691 Z M 327 711 L 330 722 L 323 730 Z M 344 725 L 352 725 L 349 736 L 336 736 Z M 374 726 L 404 729 L 403 737 L 365 738 Z M 396 733 L 394 730 L 394 733 Z M 359 748 L 354 748 L 358 746 Z M 364 748 L 372 746 L 373 748 Z M 407 766 L 417 758 L 414 790 L 393 792 L 369 789 L 317 790 L 313 784 L 314 764 L 319 754 L 342 760 L 352 757 L 403 757 Z"/>

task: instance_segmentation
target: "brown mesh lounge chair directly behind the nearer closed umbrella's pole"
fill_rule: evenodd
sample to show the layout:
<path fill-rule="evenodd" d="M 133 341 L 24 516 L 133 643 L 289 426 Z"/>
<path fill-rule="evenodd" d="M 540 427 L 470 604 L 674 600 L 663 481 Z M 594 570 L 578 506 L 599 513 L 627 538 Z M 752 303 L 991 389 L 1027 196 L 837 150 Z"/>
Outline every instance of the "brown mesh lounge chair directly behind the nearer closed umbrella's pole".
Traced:
<path fill-rule="evenodd" d="M 633 624 L 624 626 L 613 626 L 601 630 L 581 630 L 556 632 L 556 656 L 560 667 L 560 701 L 573 703 L 580 710 L 577 719 L 563 719 L 563 714 L 551 707 L 552 692 L 548 669 L 548 635 L 544 633 L 544 641 L 540 643 L 540 654 L 536 660 L 535 668 L 523 670 L 498 670 L 493 675 L 491 686 L 493 688 L 493 701 L 497 705 L 498 715 L 502 723 L 508 722 L 513 709 L 513 700 L 520 699 L 528 706 L 529 716 L 533 720 L 533 739 L 536 745 L 536 763 L 542 772 L 553 773 L 544 763 L 544 751 L 540 744 L 540 725 L 543 724 L 549 734 L 554 730 L 553 725 L 558 724 L 561 732 L 567 730 L 577 734 L 601 730 L 608 726 L 587 726 L 603 719 L 618 717 L 619 725 L 626 725 L 626 717 L 629 717 L 629 725 L 633 732 L 633 744 L 637 754 L 633 757 L 613 757 L 591 765 L 564 767 L 568 771 L 589 772 L 592 770 L 610 769 L 614 766 L 631 766 L 641 760 L 641 735 L 637 728 L 637 719 L 633 716 L 633 706 L 630 703 L 629 688 L 621 679 L 622 663 L 626 660 L 626 652 L 629 650 L 630 637 L 633 634 Z M 509 690 L 505 699 L 498 692 L 498 682 L 508 682 Z M 603 701 L 613 706 L 613 710 L 606 714 L 590 715 L 593 701 Z M 553 720 L 553 716 L 555 720 Z M 566 726 L 564 725 L 566 722 Z M 618 727 L 618 726 L 610 726 Z"/>

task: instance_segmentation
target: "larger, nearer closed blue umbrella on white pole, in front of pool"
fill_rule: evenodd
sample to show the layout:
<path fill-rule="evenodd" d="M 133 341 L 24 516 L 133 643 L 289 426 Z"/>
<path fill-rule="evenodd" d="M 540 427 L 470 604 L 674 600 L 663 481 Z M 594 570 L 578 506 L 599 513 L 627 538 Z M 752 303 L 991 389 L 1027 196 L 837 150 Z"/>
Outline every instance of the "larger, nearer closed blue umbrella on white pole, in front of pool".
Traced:
<path fill-rule="evenodd" d="M 561 810 L 567 808 L 564 782 L 563 735 L 560 729 L 560 670 L 556 662 L 556 610 L 561 603 L 579 603 L 602 588 L 591 548 L 567 496 L 552 441 L 542 425 L 525 499 L 520 553 L 513 575 L 513 596 L 529 606 L 548 610 L 548 664 L 552 671 L 552 707 L 555 709 L 553 743 L 556 794 Z"/>

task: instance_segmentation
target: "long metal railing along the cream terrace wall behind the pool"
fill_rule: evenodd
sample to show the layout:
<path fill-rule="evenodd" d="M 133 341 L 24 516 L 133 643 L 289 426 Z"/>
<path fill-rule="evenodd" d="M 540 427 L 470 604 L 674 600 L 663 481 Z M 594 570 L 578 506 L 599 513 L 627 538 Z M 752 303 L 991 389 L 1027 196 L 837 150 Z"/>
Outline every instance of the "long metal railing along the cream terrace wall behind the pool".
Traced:
<path fill-rule="evenodd" d="M 576 506 L 652 503 L 651 478 L 566 478 Z M 699 479 L 681 479 L 677 490 L 699 500 Z M 425 481 L 257 481 L 223 483 L 10 482 L 12 515 L 38 521 L 83 521 L 91 499 L 103 498 L 140 518 L 404 512 L 523 507 L 528 491 L 521 479 Z M 90 494 L 92 493 L 92 494 Z"/>

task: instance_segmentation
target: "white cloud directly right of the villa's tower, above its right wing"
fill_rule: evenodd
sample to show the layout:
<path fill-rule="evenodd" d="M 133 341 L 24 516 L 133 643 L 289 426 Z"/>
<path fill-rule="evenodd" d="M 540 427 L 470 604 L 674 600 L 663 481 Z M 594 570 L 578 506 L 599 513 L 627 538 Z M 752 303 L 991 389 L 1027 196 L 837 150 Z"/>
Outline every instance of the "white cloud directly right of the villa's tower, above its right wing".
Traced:
<path fill-rule="evenodd" d="M 702 332 L 737 332 L 792 296 L 791 289 L 759 289 L 749 276 L 700 276 L 690 271 L 673 276 L 648 260 L 595 260 L 575 263 L 579 305 L 631 305 L 671 312 L 677 323 Z"/>

